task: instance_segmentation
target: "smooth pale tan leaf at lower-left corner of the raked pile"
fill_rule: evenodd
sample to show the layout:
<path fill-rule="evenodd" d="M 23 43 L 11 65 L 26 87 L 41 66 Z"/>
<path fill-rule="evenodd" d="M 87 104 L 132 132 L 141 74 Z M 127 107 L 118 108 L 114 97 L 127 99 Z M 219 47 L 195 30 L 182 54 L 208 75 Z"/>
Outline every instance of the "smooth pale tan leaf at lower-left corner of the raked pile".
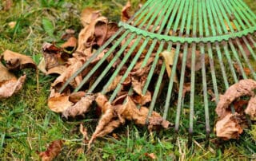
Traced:
<path fill-rule="evenodd" d="M 55 92 L 51 89 L 51 93 L 48 99 L 48 107 L 54 112 L 64 112 L 67 108 L 72 106 L 73 103 L 70 102 L 69 96 L 66 93 Z"/>

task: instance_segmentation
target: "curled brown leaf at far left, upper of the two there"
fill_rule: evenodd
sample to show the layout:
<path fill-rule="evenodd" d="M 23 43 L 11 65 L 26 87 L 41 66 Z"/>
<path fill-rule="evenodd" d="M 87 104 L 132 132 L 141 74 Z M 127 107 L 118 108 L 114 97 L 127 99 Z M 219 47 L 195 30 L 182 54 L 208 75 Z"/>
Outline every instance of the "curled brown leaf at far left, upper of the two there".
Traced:
<path fill-rule="evenodd" d="M 30 57 L 10 50 L 4 51 L 2 53 L 2 58 L 6 61 L 6 67 L 8 69 L 37 68 L 37 65 L 35 65 Z"/>

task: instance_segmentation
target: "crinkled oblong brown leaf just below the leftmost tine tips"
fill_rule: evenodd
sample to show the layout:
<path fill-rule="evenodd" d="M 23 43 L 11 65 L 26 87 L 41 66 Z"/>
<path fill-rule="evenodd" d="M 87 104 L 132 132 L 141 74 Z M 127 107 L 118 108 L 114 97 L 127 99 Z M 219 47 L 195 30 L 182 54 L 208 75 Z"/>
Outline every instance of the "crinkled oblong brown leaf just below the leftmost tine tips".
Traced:
<path fill-rule="evenodd" d="M 75 117 L 75 116 L 83 116 L 86 112 L 90 110 L 90 105 L 93 103 L 95 96 L 86 95 L 81 98 L 76 104 L 71 105 L 66 108 L 62 115 L 66 118 Z"/>

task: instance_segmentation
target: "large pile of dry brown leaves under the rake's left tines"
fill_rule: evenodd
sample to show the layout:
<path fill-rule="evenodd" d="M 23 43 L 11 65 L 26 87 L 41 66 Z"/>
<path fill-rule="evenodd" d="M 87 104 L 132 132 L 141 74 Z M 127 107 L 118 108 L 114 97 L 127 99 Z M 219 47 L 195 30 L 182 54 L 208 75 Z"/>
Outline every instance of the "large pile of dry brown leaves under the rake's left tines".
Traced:
<path fill-rule="evenodd" d="M 129 15 L 126 10 L 129 7 L 128 3 L 124 10 L 122 10 L 123 21 L 128 19 L 127 17 Z M 41 61 L 38 68 L 46 74 L 59 75 L 51 84 L 51 92 L 48 100 L 49 108 L 54 112 L 62 113 L 62 116 L 66 118 L 85 116 L 86 112 L 90 110 L 96 112 L 97 110 L 100 113 L 100 119 L 98 126 L 89 140 L 88 147 L 90 147 L 94 139 L 113 132 L 115 128 L 125 124 L 126 120 L 133 120 L 135 124 L 140 126 L 147 125 L 150 131 L 158 128 L 168 128 L 170 123 L 163 120 L 158 112 L 152 112 L 151 116 L 149 116 L 149 109 L 146 107 L 146 104 L 149 104 L 151 101 L 151 92 L 142 93 L 142 87 L 146 83 L 146 77 L 154 61 L 154 54 L 150 56 L 144 68 L 141 68 L 141 65 L 146 53 L 139 57 L 138 63 L 134 65 L 126 81 L 122 83 L 121 91 L 118 92 L 118 96 L 112 102 L 108 100 L 106 95 L 100 92 L 88 93 L 87 90 L 91 84 L 94 84 L 94 78 L 97 78 L 102 73 L 102 69 L 106 68 L 106 65 L 113 59 L 116 54 L 115 51 L 106 58 L 106 62 L 102 63 L 102 66 L 94 73 L 91 79 L 85 82 L 82 90 L 72 92 L 74 88 L 77 88 L 81 84 L 82 79 L 86 77 L 94 65 L 105 56 L 105 53 L 110 49 L 112 44 L 108 45 L 98 57 L 95 57 L 90 62 L 90 65 L 70 82 L 64 92 L 58 92 L 66 80 L 77 72 L 90 59 L 94 52 L 118 30 L 117 24 L 108 22 L 108 19 L 103 17 L 98 10 L 92 10 L 90 8 L 82 11 L 81 22 L 83 29 L 78 35 L 78 40 L 74 37 L 72 30 L 67 30 L 66 34 L 62 36 L 66 40 L 62 46 L 58 47 L 50 43 L 43 45 L 44 60 Z M 122 53 L 122 56 L 112 65 L 112 72 L 117 68 L 122 57 L 126 55 L 129 49 L 130 47 L 128 46 L 127 50 Z M 136 49 L 134 53 L 136 53 Z M 127 65 L 129 65 L 129 62 Z M 106 88 L 107 94 L 113 92 L 118 86 L 122 75 L 127 69 L 127 65 L 122 67 L 118 76 L 114 78 L 113 83 Z M 158 66 L 160 67 L 160 65 L 162 65 L 162 61 L 159 62 Z M 155 70 L 155 73 L 158 72 L 159 70 Z M 130 88 L 133 91 L 128 94 Z M 92 108 L 95 107 L 94 103 L 97 104 L 96 108 Z"/>

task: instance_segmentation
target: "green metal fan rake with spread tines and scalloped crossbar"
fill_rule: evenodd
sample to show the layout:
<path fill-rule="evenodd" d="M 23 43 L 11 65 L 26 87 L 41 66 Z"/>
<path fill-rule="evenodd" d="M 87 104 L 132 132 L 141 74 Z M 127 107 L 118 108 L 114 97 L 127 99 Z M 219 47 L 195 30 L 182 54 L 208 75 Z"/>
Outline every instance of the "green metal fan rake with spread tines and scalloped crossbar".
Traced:
<path fill-rule="evenodd" d="M 146 49 L 146 57 L 142 62 L 143 68 L 153 50 L 157 48 L 157 54 L 154 57 L 154 62 L 147 76 L 146 84 L 142 89 L 142 94 L 146 94 L 150 86 L 150 81 L 157 79 L 154 84 L 154 93 L 152 94 L 149 107 L 150 115 L 156 106 L 162 81 L 166 81 L 166 79 L 163 79 L 166 71 L 165 63 L 162 63 L 158 78 L 153 77 L 158 61 L 162 59 L 159 54 L 163 50 L 170 51 L 171 49 L 175 49 L 174 62 L 171 70 L 172 73 L 175 73 L 178 65 L 181 66 L 181 69 L 178 75 L 178 103 L 174 130 L 178 132 L 180 127 L 184 101 L 182 89 L 187 79 L 186 61 L 189 60 L 191 61 L 189 70 L 190 101 L 188 103 L 190 108 L 189 134 L 190 136 L 192 135 L 193 126 L 197 124 L 194 123 L 194 112 L 196 112 L 194 107 L 195 94 L 202 92 L 204 102 L 204 109 L 202 110 L 205 112 L 206 136 L 209 137 L 210 96 L 208 96 L 207 90 L 213 88 L 215 103 L 218 103 L 219 92 L 225 90 L 220 88 L 220 86 L 223 87 L 224 85 L 225 88 L 229 88 L 230 84 L 238 82 L 239 79 L 252 78 L 256 80 L 256 73 L 254 71 L 256 64 L 256 54 L 254 53 L 254 48 L 256 47 L 254 35 L 256 31 L 256 15 L 242 0 L 149 0 L 128 22 L 120 22 L 119 26 L 118 31 L 82 65 L 82 68 L 77 73 L 66 81 L 60 92 L 70 84 L 70 81 L 74 80 L 74 77 L 82 73 L 90 65 L 90 62 L 102 53 L 103 49 L 110 46 L 104 57 L 94 65 L 82 83 L 74 89 L 74 92 L 77 92 L 88 80 L 92 79 L 91 77 L 96 70 L 104 61 L 106 62 L 106 58 L 115 52 L 112 60 L 108 62 L 109 64 L 106 65 L 105 69 L 102 69 L 102 73 L 99 74 L 94 84 L 87 91 L 89 93 L 94 92 L 96 87 L 103 86 L 101 92 L 106 94 L 106 88 L 118 76 L 122 66 L 126 64 L 128 59 L 132 59 L 130 65 L 128 65 L 128 68 L 122 75 L 118 86 L 110 95 L 109 101 L 112 102 L 118 95 L 122 83 L 138 62 L 138 58 L 141 56 L 143 50 L 150 44 L 150 47 Z M 125 39 L 125 43 L 121 45 Z M 112 65 L 118 60 L 118 57 L 121 57 L 131 41 L 134 41 L 133 45 L 126 51 L 126 55 L 122 57 L 121 62 L 114 72 L 108 76 L 107 82 L 103 82 L 102 80 L 109 75 Z M 138 48 L 138 51 L 135 56 L 131 56 L 135 48 Z M 201 56 L 199 58 L 196 57 L 196 52 L 198 51 Z M 191 59 L 187 59 L 188 53 L 191 54 Z M 182 54 L 181 63 L 178 61 L 180 54 Z M 206 63 L 206 58 L 209 63 Z M 198 62 L 196 59 L 200 59 L 199 62 L 201 61 L 202 64 L 202 68 L 198 73 L 195 70 L 196 62 Z M 245 71 L 245 69 L 249 70 L 249 72 Z M 240 71 L 239 73 L 238 70 Z M 198 74 L 200 74 L 202 81 L 198 81 Z M 174 80 L 175 76 L 171 74 L 166 84 L 166 94 L 164 95 L 166 96 L 166 102 L 163 107 L 162 116 L 165 120 L 170 110 L 171 97 L 174 96 Z M 198 85 L 197 82 L 202 82 L 202 88 L 198 91 L 199 93 L 195 90 L 195 85 Z"/>

